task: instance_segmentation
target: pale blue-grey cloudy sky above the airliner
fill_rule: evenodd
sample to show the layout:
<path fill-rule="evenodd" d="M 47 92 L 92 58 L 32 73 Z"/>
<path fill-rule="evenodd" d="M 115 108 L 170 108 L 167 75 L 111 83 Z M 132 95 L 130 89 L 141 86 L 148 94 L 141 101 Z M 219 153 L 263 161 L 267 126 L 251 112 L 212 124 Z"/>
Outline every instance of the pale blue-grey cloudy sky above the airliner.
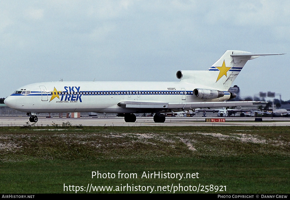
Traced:
<path fill-rule="evenodd" d="M 0 98 L 46 81 L 178 81 L 226 50 L 250 60 L 234 84 L 290 99 L 289 1 L 0 1 Z"/>

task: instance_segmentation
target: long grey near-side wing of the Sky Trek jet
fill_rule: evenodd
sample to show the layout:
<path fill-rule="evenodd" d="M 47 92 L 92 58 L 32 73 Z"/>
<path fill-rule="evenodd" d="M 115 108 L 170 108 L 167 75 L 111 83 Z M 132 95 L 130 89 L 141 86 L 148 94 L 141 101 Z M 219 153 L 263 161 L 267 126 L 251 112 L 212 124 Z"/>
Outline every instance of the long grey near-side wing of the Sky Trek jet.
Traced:
<path fill-rule="evenodd" d="M 222 102 L 184 102 L 184 103 L 168 103 L 168 102 L 139 102 L 139 101 L 121 101 L 118 106 L 124 108 L 139 109 L 195 109 L 209 107 L 236 107 L 236 106 L 252 106 L 254 103 L 264 103 L 261 101 L 222 101 Z"/>

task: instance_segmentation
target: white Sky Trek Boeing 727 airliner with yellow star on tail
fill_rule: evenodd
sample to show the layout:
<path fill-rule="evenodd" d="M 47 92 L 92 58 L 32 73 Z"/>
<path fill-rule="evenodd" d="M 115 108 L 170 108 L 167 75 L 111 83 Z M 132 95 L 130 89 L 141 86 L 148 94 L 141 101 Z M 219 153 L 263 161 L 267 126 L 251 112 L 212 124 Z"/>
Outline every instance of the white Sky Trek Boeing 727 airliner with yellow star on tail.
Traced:
<path fill-rule="evenodd" d="M 39 113 L 119 113 L 135 122 L 134 113 L 155 113 L 164 122 L 166 112 L 195 108 L 251 106 L 253 101 L 231 102 L 231 84 L 248 60 L 264 55 L 228 50 L 206 71 L 177 71 L 180 82 L 41 82 L 28 84 L 8 96 L 4 103 L 26 112 L 30 122 Z"/>

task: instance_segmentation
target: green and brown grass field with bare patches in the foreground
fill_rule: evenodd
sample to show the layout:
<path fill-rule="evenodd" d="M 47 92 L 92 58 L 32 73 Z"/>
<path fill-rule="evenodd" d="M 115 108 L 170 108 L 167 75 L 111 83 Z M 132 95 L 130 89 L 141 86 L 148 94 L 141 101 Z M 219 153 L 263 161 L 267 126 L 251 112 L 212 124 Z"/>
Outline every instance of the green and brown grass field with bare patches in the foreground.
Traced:
<path fill-rule="evenodd" d="M 290 127 L 71 127 L 69 123 L 0 127 L 0 193 L 76 193 L 76 189 L 89 193 L 91 184 L 113 189 L 90 193 L 197 193 L 198 187 L 198 193 L 289 193 L 289 131 Z M 92 179 L 97 171 L 106 178 Z M 142 177 L 148 171 L 169 172 L 175 178 Z M 137 178 L 125 178 L 126 173 Z M 182 178 L 176 173 L 183 173 Z M 193 173 L 195 178 L 185 177 Z M 131 191 L 124 189 L 127 184 Z M 120 186 L 122 191 L 117 191 Z"/>

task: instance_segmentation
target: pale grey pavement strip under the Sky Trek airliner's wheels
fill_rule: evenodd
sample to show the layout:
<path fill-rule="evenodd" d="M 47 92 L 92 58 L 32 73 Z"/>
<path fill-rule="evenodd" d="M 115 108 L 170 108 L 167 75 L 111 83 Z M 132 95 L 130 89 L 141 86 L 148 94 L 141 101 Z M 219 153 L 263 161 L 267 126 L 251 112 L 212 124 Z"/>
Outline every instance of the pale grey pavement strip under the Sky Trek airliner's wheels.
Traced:
<path fill-rule="evenodd" d="M 262 118 L 262 122 L 255 122 L 255 118 L 232 117 L 222 118 L 225 122 L 205 122 L 204 117 L 167 117 L 164 123 L 155 123 L 153 117 L 137 117 L 136 122 L 127 123 L 122 117 L 98 118 L 44 118 L 39 117 L 35 126 L 62 125 L 69 122 L 72 126 L 290 126 L 290 118 Z M 207 118 L 209 119 L 209 118 Z M 215 118 L 221 119 L 221 118 Z M 32 124 L 28 117 L 0 117 L 0 126 L 23 126 Z"/>

